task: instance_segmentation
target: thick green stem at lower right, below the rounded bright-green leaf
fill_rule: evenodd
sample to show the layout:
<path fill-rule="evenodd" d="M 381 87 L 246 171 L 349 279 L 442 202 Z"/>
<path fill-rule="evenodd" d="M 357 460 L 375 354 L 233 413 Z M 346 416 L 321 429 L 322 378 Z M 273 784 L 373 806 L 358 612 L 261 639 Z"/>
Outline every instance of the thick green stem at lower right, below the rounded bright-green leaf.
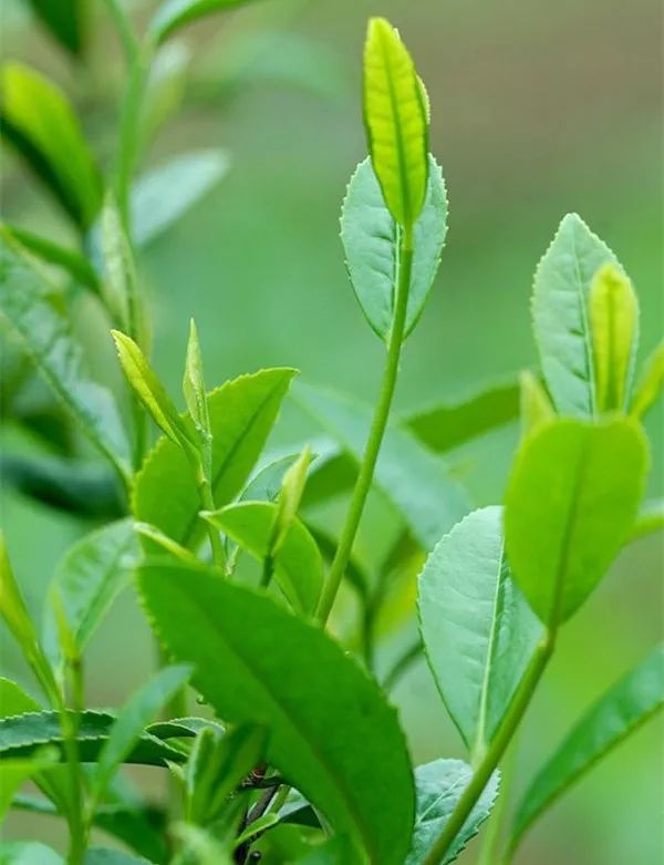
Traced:
<path fill-rule="evenodd" d="M 515 693 L 510 707 L 507 710 L 491 744 L 470 779 L 470 783 L 457 802 L 455 810 L 452 812 L 449 820 L 445 824 L 445 828 L 440 835 L 438 835 L 428 856 L 424 861 L 424 865 L 438 865 L 445 859 L 445 856 L 449 852 L 449 847 L 466 823 L 468 815 L 483 794 L 494 770 L 498 765 L 500 758 L 517 731 L 530 700 L 532 699 L 537 684 L 549 662 L 554 641 L 554 631 L 547 631 L 528 665 L 528 669 L 521 679 L 521 683 Z"/>

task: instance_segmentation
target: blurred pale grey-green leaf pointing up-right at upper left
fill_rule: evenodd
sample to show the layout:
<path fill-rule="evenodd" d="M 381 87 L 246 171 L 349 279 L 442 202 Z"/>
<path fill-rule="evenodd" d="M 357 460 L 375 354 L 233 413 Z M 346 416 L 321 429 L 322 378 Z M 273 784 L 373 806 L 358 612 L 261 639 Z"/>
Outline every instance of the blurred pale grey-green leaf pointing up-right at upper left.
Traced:
<path fill-rule="evenodd" d="M 191 151 L 138 177 L 129 202 L 134 243 L 147 246 L 164 234 L 219 183 L 228 165 L 224 151 Z"/>

